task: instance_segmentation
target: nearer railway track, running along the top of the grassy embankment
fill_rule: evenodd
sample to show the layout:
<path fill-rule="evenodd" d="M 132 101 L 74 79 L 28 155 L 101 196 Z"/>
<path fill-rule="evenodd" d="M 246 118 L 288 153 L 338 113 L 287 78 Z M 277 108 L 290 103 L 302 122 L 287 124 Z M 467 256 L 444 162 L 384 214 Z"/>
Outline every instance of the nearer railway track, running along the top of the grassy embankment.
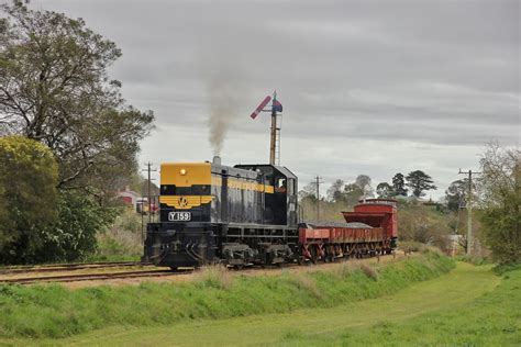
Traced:
<path fill-rule="evenodd" d="M 81 275 L 60 275 L 60 276 L 45 276 L 45 277 L 19 277 L 0 279 L 0 284 L 18 283 L 18 284 L 33 284 L 33 283 L 49 283 L 49 282 L 78 282 L 78 281 L 96 281 L 96 280 L 112 280 L 112 279 L 129 279 L 129 278 L 146 278 L 146 277 L 167 277 L 188 273 L 189 270 L 182 272 L 173 272 L 170 270 L 149 270 L 149 271 L 125 271 L 125 272 L 103 272 L 103 273 L 81 273 Z"/>

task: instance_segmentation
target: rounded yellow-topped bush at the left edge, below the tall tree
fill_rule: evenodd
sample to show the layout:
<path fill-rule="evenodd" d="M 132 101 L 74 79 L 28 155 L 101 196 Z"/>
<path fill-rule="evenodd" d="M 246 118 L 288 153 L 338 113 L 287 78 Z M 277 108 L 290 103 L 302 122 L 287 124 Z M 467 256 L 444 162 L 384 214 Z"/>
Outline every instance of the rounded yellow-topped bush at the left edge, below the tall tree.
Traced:
<path fill-rule="evenodd" d="M 0 137 L 0 261 L 25 262 L 40 247 L 35 234 L 55 223 L 58 168 L 43 144 Z"/>

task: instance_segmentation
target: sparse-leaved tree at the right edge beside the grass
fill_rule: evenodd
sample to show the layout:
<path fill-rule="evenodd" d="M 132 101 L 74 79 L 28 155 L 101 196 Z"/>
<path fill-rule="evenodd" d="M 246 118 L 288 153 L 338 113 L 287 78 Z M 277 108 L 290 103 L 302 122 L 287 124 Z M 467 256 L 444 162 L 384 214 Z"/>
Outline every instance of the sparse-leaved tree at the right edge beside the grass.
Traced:
<path fill-rule="evenodd" d="M 500 264 L 521 262 L 521 152 L 490 144 L 480 166 L 485 242 Z"/>

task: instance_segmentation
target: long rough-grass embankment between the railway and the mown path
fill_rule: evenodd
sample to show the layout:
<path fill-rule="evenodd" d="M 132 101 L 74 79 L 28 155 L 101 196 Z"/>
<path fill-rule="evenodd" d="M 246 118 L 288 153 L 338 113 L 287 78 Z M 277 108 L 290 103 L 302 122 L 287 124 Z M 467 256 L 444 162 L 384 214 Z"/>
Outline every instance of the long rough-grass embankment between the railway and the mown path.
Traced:
<path fill-rule="evenodd" d="M 453 268 L 453 260 L 425 251 L 379 267 L 344 262 L 334 270 L 282 270 L 279 276 L 232 276 L 212 269 L 185 283 L 79 290 L 62 286 L 3 286 L 0 335 L 58 338 L 107 326 L 171 326 L 186 321 L 334 307 L 392 294 Z"/>

